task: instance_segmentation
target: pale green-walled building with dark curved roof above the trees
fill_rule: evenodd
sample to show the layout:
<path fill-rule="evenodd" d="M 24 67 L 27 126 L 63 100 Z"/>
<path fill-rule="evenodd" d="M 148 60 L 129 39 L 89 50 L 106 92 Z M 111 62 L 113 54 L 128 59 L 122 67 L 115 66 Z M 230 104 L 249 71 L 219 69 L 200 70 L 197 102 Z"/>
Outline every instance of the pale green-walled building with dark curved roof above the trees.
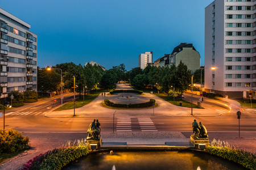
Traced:
<path fill-rule="evenodd" d="M 192 71 L 192 73 L 200 69 L 200 54 L 196 51 L 193 44 L 181 43 L 176 46 L 172 51 L 170 57 L 170 61 L 168 65 L 178 66 L 180 61 L 188 66 L 188 69 Z"/>

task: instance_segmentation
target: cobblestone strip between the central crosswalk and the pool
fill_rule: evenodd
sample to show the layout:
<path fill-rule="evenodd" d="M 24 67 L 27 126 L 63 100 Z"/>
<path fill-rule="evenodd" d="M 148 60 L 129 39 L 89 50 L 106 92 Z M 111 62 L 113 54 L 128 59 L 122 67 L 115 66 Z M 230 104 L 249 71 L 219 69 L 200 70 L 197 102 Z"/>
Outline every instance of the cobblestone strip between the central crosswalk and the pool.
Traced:
<path fill-rule="evenodd" d="M 147 138 L 147 139 L 163 139 L 163 138 L 185 138 L 183 134 L 178 131 L 158 131 L 158 132 L 115 132 L 101 133 L 102 138 Z"/>

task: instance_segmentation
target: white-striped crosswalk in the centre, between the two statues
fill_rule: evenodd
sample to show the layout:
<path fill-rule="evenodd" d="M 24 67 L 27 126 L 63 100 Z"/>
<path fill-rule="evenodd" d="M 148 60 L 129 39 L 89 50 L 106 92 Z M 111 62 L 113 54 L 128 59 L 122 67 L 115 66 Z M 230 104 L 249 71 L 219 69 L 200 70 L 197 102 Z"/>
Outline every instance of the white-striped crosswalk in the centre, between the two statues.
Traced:
<path fill-rule="evenodd" d="M 149 117 L 133 118 L 133 120 L 130 117 L 118 117 L 116 131 L 133 131 L 131 121 L 134 121 L 134 126 L 139 125 L 141 131 L 158 131 L 154 122 Z"/>

